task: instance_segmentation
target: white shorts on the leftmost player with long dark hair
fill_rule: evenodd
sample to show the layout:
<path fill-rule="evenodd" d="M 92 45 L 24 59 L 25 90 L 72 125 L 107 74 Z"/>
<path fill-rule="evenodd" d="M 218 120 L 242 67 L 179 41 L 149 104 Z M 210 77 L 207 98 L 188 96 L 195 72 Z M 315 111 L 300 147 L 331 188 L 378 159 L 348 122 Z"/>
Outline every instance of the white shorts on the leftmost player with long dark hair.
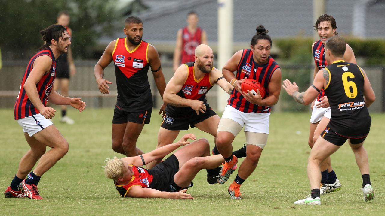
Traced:
<path fill-rule="evenodd" d="M 23 132 L 27 132 L 29 136 L 33 136 L 35 133 L 54 124 L 50 120 L 44 118 L 40 113 L 19 119 L 17 120 L 17 123 L 22 126 Z"/>

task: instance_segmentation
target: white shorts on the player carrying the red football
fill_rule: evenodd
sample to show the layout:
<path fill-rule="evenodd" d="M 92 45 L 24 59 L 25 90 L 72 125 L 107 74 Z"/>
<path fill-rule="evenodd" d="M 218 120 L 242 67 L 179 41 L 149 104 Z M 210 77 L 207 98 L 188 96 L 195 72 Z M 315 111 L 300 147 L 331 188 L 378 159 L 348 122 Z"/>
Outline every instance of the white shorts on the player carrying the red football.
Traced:
<path fill-rule="evenodd" d="M 244 125 L 244 131 L 269 134 L 270 113 L 244 113 L 227 105 L 222 118 L 229 118 L 239 125 Z"/>

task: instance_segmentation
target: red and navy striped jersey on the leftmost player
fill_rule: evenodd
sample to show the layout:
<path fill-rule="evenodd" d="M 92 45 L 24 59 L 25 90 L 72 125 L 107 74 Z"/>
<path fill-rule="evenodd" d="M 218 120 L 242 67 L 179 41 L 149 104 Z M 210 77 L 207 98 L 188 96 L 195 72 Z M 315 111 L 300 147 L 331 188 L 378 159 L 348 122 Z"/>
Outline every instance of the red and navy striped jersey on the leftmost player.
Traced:
<path fill-rule="evenodd" d="M 40 101 L 42 101 L 44 106 L 47 105 L 49 95 L 52 91 L 52 88 L 54 87 L 55 71 L 56 71 L 55 56 L 54 56 L 54 53 L 52 53 L 52 50 L 50 48 L 46 48 L 36 53 L 28 63 L 27 69 L 25 70 L 25 73 L 22 79 L 22 83 L 20 85 L 20 91 L 15 102 L 15 107 L 13 110 L 15 120 L 19 120 L 21 118 L 25 118 L 25 117 L 40 113 L 39 110 L 37 110 L 35 106 L 33 106 L 32 102 L 29 100 L 28 95 L 25 92 L 23 86 L 33 69 L 33 63 L 35 62 L 36 58 L 44 55 L 50 56 L 50 58 L 52 58 L 52 67 L 49 73 L 44 74 L 40 79 L 39 83 L 36 84 L 36 89 L 37 89 L 37 93 L 39 94 Z"/>

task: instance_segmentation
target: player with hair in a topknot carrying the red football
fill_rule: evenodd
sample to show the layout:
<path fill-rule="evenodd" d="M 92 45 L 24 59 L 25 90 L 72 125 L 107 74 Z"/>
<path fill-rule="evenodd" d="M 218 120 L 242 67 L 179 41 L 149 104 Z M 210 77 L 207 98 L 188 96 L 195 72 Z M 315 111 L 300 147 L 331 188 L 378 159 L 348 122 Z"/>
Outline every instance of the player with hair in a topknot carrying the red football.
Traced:
<path fill-rule="evenodd" d="M 217 148 L 223 156 L 224 164 L 218 176 L 218 183 L 225 183 L 236 167 L 238 159 L 231 154 L 231 142 L 245 126 L 247 153 L 239 167 L 238 175 L 229 186 L 231 199 L 241 199 L 239 187 L 253 173 L 259 157 L 266 145 L 269 134 L 269 116 L 271 106 L 278 101 L 281 91 L 281 69 L 270 56 L 271 38 L 268 30 L 259 25 L 257 33 L 251 39 L 251 49 L 239 50 L 224 65 L 222 73 L 227 81 L 234 86 L 221 121 L 218 126 Z M 234 76 L 236 71 L 236 76 Z M 243 79 L 257 80 L 266 89 L 261 98 L 241 89 Z"/>

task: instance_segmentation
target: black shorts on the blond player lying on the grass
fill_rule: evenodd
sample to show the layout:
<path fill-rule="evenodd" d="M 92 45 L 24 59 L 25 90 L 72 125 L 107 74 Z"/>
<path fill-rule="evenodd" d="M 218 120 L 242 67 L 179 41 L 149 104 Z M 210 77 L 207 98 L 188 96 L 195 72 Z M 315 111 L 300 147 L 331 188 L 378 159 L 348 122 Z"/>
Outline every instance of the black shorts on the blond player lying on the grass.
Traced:
<path fill-rule="evenodd" d="M 152 182 L 149 188 L 157 189 L 158 191 L 177 192 L 179 187 L 174 182 L 174 175 L 179 171 L 179 161 L 175 155 L 169 156 L 166 160 L 157 164 L 154 168 L 149 169 L 148 172 L 152 174 Z M 189 187 L 192 187 L 192 182 Z"/>

